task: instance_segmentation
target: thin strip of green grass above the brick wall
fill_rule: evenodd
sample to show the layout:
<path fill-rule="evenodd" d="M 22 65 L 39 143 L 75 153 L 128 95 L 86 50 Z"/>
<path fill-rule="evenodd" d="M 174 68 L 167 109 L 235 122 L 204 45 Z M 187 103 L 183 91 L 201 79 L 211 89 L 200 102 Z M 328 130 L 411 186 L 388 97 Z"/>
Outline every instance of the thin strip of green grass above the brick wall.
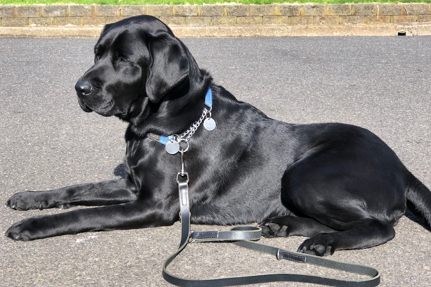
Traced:
<path fill-rule="evenodd" d="M 35 4 L 105 4 L 105 5 L 144 5 L 144 4 L 216 4 L 216 3 L 242 3 L 242 4 L 272 4 L 272 3 L 316 3 L 316 4 L 343 4 L 343 3 L 431 3 L 431 0 L 0 0 L 3 5 L 35 5 Z"/>

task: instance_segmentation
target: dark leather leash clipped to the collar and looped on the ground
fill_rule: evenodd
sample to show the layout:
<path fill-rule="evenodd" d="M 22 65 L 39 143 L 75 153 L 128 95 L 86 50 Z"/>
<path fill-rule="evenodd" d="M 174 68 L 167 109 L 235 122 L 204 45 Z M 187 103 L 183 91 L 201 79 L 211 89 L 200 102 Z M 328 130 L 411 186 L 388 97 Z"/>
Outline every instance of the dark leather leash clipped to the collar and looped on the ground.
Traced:
<path fill-rule="evenodd" d="M 182 152 L 181 152 L 181 163 Z M 282 250 L 253 242 L 261 236 L 258 227 L 241 226 L 230 231 L 190 231 L 190 207 L 188 200 L 188 175 L 181 165 L 181 171 L 176 177 L 179 192 L 181 242 L 177 251 L 171 254 L 163 263 L 163 278 L 170 284 L 181 287 L 222 287 L 246 284 L 258 284 L 267 282 L 305 282 L 335 287 L 375 287 L 380 283 L 380 272 L 372 267 L 350 263 L 342 263 L 322 257 L 306 255 L 297 252 Z M 190 242 L 220 242 L 228 241 L 250 250 L 275 255 L 278 260 L 286 259 L 297 263 L 307 263 L 326 268 L 336 269 L 354 274 L 366 275 L 369 278 L 363 280 L 344 280 L 329 277 L 319 277 L 304 274 L 263 274 L 242 277 L 218 278 L 218 279 L 186 279 L 172 275 L 167 271 L 168 265 L 178 256 Z"/>

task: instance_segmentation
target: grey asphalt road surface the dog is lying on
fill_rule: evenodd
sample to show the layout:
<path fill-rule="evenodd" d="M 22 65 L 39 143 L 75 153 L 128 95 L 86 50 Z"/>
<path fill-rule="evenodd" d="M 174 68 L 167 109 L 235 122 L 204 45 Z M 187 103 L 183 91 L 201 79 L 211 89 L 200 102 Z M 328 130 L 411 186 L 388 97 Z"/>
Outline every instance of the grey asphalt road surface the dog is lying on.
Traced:
<path fill-rule="evenodd" d="M 19 191 L 122 175 L 125 123 L 84 113 L 73 89 L 91 65 L 95 41 L 0 38 L 1 201 Z M 287 122 L 344 122 L 368 128 L 431 187 L 430 36 L 190 38 L 184 42 L 200 67 L 239 100 Z M 60 212 L 65 210 L 19 212 L 0 206 L 0 231 L 29 216 Z M 0 285 L 168 287 L 161 277 L 161 263 L 176 249 L 179 228 L 177 223 L 32 242 L 1 236 Z M 431 286 L 431 232 L 412 215 L 403 217 L 395 231 L 395 238 L 384 245 L 339 251 L 332 258 L 378 268 L 381 287 Z M 296 250 L 303 240 L 261 242 Z M 190 278 L 271 272 L 334 275 L 331 270 L 213 243 L 190 245 L 171 270 Z"/>

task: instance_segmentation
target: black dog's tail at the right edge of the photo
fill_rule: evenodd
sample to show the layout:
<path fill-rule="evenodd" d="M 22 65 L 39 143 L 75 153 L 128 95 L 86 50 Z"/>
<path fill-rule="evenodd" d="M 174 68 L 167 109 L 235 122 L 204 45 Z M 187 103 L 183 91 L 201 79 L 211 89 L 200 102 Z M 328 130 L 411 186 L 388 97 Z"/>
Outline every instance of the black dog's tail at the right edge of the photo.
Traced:
<path fill-rule="evenodd" d="M 409 185 L 405 190 L 405 197 L 411 211 L 424 218 L 431 228 L 431 191 L 411 173 L 409 173 Z"/>

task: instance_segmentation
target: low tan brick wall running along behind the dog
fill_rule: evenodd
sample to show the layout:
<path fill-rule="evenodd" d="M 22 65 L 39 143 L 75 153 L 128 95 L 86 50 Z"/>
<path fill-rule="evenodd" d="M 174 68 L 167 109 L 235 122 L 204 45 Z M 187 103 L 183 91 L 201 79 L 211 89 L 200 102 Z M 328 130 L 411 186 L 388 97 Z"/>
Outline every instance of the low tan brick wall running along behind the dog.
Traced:
<path fill-rule="evenodd" d="M 0 5 L 0 26 L 104 25 L 148 14 L 168 25 L 338 25 L 431 22 L 431 4 Z"/>

